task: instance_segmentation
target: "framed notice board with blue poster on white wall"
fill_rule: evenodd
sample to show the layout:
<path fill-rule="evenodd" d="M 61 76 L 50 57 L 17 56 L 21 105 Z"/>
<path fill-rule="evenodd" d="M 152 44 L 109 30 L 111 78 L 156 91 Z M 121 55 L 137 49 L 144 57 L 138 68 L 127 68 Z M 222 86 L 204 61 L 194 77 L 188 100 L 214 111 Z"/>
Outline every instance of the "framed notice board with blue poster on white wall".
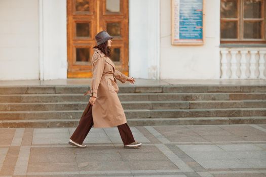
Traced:
<path fill-rule="evenodd" d="M 204 0 L 172 0 L 172 45 L 204 44 Z"/>

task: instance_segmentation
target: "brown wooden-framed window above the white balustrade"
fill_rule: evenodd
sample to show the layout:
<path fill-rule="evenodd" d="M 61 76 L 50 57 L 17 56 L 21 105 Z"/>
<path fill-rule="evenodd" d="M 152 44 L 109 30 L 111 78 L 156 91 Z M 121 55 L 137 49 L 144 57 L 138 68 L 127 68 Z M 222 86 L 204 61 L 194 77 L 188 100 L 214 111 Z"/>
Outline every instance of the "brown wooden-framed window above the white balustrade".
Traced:
<path fill-rule="evenodd" d="M 221 43 L 266 43 L 266 0 L 221 0 Z"/>

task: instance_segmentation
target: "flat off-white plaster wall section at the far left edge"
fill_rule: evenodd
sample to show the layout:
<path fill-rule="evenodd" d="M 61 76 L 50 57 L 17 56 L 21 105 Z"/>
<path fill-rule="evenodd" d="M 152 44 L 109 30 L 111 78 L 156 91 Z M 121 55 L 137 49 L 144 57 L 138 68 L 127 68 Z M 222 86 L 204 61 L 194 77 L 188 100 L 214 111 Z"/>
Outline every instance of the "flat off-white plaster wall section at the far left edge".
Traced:
<path fill-rule="evenodd" d="M 0 0 L 0 80 L 39 79 L 38 9 L 38 0 Z"/>

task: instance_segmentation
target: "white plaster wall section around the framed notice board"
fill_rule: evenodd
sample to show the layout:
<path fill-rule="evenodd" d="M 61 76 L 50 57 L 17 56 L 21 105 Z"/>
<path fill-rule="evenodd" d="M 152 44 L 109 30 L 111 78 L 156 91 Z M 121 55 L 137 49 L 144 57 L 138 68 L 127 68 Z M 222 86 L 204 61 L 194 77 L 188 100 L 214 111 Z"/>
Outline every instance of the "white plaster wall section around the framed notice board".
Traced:
<path fill-rule="evenodd" d="M 171 45 L 171 0 L 161 0 L 161 79 L 219 78 L 219 0 L 205 0 L 203 46 Z"/>

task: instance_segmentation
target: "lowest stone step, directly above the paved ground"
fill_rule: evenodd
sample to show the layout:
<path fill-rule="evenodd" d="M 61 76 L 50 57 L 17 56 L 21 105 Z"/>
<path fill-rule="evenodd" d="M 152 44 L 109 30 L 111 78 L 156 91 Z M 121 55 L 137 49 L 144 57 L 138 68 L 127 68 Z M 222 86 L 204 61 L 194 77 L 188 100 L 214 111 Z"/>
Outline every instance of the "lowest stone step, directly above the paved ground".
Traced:
<path fill-rule="evenodd" d="M 0 120 L 0 128 L 15 127 L 77 127 L 80 119 L 26 119 Z M 179 117 L 179 118 L 132 118 L 129 126 L 145 125 L 206 125 L 206 124 L 264 124 L 266 116 L 251 117 Z"/>

